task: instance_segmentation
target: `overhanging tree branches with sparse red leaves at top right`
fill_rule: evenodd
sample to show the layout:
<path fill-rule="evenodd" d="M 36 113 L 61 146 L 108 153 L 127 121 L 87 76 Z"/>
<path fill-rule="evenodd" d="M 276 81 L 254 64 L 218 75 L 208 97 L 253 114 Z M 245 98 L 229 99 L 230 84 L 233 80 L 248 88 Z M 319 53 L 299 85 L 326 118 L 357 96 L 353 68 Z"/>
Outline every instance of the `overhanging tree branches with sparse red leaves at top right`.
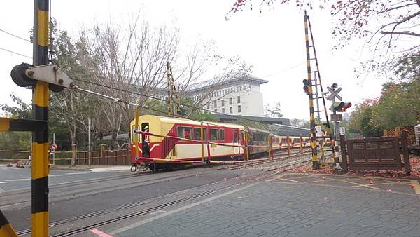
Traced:
<path fill-rule="evenodd" d="M 370 69 L 389 69 L 390 60 L 391 69 L 395 69 L 399 61 L 420 53 L 420 0 L 237 0 L 228 15 L 247 7 L 255 9 L 253 4 L 261 12 L 274 3 L 329 9 L 337 18 L 332 31 L 337 39 L 334 48 L 343 48 L 352 39 L 366 39 L 374 54 L 367 64 Z M 373 61 L 377 64 L 372 65 Z"/>

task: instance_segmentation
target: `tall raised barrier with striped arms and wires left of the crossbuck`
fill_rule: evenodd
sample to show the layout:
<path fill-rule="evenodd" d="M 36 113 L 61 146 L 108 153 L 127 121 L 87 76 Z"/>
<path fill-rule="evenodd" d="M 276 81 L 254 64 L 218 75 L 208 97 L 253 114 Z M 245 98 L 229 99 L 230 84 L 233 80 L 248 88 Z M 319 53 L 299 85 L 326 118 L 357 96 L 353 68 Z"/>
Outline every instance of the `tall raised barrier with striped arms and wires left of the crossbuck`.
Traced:
<path fill-rule="evenodd" d="M 309 41 L 309 34 L 311 35 Z M 314 36 L 312 34 L 311 22 L 309 15 L 304 12 L 304 36 L 306 40 L 307 53 L 307 74 L 308 79 L 304 79 L 304 91 L 309 95 L 309 114 L 311 122 L 311 149 L 312 149 L 312 168 L 319 168 L 324 164 L 322 140 L 330 138 L 331 147 L 334 147 L 334 140 L 328 119 L 327 107 L 325 105 L 325 97 L 323 93 L 321 74 L 319 73 L 318 59 L 316 58 L 316 50 L 314 45 Z M 311 55 L 313 55 L 311 57 Z M 322 103 L 320 102 L 322 100 Z M 316 102 L 316 110 L 314 110 L 314 101 Z M 320 109 L 320 104 L 323 109 Z M 321 120 L 321 112 L 325 115 L 325 123 Z M 315 121 L 315 113 L 318 114 L 318 120 Z M 321 151 L 321 158 L 318 158 L 318 151 Z M 335 149 L 332 149 L 332 158 L 335 160 Z"/>

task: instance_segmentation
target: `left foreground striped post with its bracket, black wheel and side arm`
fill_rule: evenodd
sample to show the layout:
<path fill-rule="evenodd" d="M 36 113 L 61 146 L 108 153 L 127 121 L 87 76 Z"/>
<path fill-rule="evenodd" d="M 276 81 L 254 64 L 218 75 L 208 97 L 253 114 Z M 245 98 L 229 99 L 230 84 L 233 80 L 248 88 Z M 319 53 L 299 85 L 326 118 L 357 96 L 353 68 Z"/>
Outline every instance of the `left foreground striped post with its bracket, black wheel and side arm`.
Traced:
<path fill-rule="evenodd" d="M 50 90 L 76 88 L 73 81 L 48 60 L 49 1 L 34 0 L 33 65 L 22 63 L 10 72 L 12 80 L 31 87 L 33 119 L 0 118 L 0 131 L 31 131 L 31 236 L 48 236 L 48 107 Z M 1 229 L 3 229 L 3 224 Z M 7 226 L 6 226 L 7 227 Z M 15 236 L 12 229 L 10 236 Z M 0 231 L 0 236 L 3 233 Z"/>

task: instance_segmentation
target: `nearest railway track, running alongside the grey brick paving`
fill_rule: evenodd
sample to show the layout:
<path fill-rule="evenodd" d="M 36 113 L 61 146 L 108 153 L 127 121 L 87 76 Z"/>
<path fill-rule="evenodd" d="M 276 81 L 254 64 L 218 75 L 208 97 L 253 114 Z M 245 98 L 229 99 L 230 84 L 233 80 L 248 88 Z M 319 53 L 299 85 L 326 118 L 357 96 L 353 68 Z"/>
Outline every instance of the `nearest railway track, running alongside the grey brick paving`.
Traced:
<path fill-rule="evenodd" d="M 303 154 L 306 155 L 306 154 Z M 300 156 L 302 156 L 302 154 L 297 154 L 295 156 L 288 156 L 288 157 L 283 157 L 283 158 L 276 158 L 275 160 L 269 159 L 267 161 L 255 161 L 255 163 L 253 163 L 253 165 L 239 165 L 242 166 L 241 168 L 245 168 L 245 167 L 253 167 L 255 165 L 260 165 L 260 164 L 265 164 L 265 163 L 274 163 L 274 167 L 270 168 L 269 170 L 266 171 L 274 171 L 274 170 L 282 170 L 282 171 L 286 171 L 286 170 L 290 170 L 293 169 L 297 166 L 300 165 L 306 165 L 307 163 L 309 163 L 311 161 L 311 158 L 300 158 Z M 297 158 L 297 161 L 293 161 L 293 158 Z M 290 161 L 292 160 L 292 161 Z M 235 167 L 238 168 L 238 167 Z M 203 173 L 203 172 L 202 172 Z M 192 175 L 197 175 L 197 174 L 192 174 Z M 106 224 L 111 224 L 114 222 L 119 222 L 125 219 L 130 219 L 132 217 L 140 217 L 142 215 L 147 215 L 150 214 L 151 212 L 155 212 L 157 210 L 162 210 L 164 208 L 168 208 L 172 205 L 178 205 L 181 203 L 186 203 L 189 201 L 194 201 L 198 198 L 203 198 L 205 196 L 209 196 L 211 194 L 215 194 L 217 192 L 220 191 L 224 191 L 227 189 L 232 189 L 232 187 L 237 187 L 239 185 L 244 185 L 244 184 L 248 184 L 253 182 L 253 180 L 255 179 L 259 179 L 259 180 L 265 180 L 265 179 L 269 179 L 272 176 L 277 175 L 276 172 L 269 172 L 267 174 L 267 172 L 257 172 L 257 175 L 255 174 L 247 174 L 247 175 L 241 175 L 241 177 L 235 177 L 231 178 L 229 180 L 233 180 L 232 184 L 228 184 L 228 185 L 223 185 L 226 181 L 222 180 L 216 183 L 211 183 L 211 184 L 204 184 L 200 187 L 197 188 L 193 188 L 193 189 L 203 189 L 203 188 L 209 188 L 210 190 L 206 190 L 206 191 L 202 191 L 199 194 L 194 194 L 193 196 L 188 196 L 188 197 L 184 197 L 184 198 L 179 198 L 176 199 L 174 201 L 168 201 L 159 205 L 153 205 L 153 203 L 159 202 L 159 201 L 164 201 L 164 199 L 166 198 L 164 197 L 158 197 L 158 198 L 152 198 L 150 200 L 147 201 L 139 201 L 136 203 L 128 203 L 125 205 L 118 205 L 115 208 L 110 208 L 110 209 L 106 209 L 106 210 L 99 210 L 97 212 L 90 212 L 84 215 L 79 215 L 77 217 L 72 217 L 69 219 L 62 219 L 56 222 L 50 222 L 50 228 L 51 229 L 56 229 L 59 228 L 61 226 L 70 226 L 72 223 L 74 222 L 80 222 L 83 221 L 83 219 L 89 219 L 89 218 L 93 218 L 93 217 L 99 217 L 99 216 L 104 216 L 104 215 L 111 215 L 113 213 L 116 212 L 122 212 L 122 211 L 127 211 L 127 210 L 132 210 L 134 208 L 141 208 L 141 206 L 144 205 L 152 205 L 151 207 L 145 208 L 144 210 L 141 211 L 137 211 L 137 212 L 129 212 L 125 215 L 118 215 L 117 217 L 113 217 L 113 218 L 109 218 L 106 219 L 104 221 L 100 221 L 100 222 L 96 222 L 93 224 L 87 224 L 85 226 L 82 226 L 78 229 L 73 229 L 70 231 L 64 231 L 62 233 L 55 233 L 52 236 L 74 236 L 74 235 L 78 235 L 80 233 L 83 233 L 84 231 L 88 231 L 90 229 L 93 228 L 97 228 L 99 226 L 104 226 Z M 191 175 L 190 175 L 191 176 Z M 183 177 L 186 177 L 185 175 Z M 247 177 L 247 178 L 245 178 Z M 251 177 L 251 179 L 249 178 Z M 220 185 L 223 185 L 223 187 L 218 187 Z M 184 190 L 185 191 L 185 190 Z M 18 231 L 18 234 L 20 236 L 25 236 L 27 234 L 31 233 L 30 229 L 25 229 L 22 231 Z"/>

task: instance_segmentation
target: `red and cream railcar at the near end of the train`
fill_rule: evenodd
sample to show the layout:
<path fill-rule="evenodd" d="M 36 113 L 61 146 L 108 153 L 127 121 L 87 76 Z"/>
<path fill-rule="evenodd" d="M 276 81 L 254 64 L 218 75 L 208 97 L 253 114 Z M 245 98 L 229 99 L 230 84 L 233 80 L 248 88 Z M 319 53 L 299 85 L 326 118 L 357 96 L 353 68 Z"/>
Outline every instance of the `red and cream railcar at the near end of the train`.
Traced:
<path fill-rule="evenodd" d="M 132 130 L 132 163 L 137 163 L 135 157 L 134 136 L 139 141 L 139 156 L 150 156 L 166 160 L 201 161 L 201 122 L 185 118 L 169 118 L 164 116 L 139 116 L 139 128 L 135 128 L 135 120 L 130 123 Z M 148 128 L 148 130 L 146 130 Z M 172 137 L 181 137 L 188 140 L 177 140 L 170 137 L 135 134 L 134 130 L 148 131 L 148 133 Z M 204 130 L 204 158 L 207 160 L 208 151 L 211 160 L 223 158 L 244 157 L 243 147 L 230 147 L 223 145 L 244 146 L 244 126 L 229 123 L 203 122 Z M 207 140 L 211 142 L 207 147 Z M 144 151 L 144 144 L 148 143 L 149 151 Z M 150 154 L 150 155 L 149 155 Z"/>

